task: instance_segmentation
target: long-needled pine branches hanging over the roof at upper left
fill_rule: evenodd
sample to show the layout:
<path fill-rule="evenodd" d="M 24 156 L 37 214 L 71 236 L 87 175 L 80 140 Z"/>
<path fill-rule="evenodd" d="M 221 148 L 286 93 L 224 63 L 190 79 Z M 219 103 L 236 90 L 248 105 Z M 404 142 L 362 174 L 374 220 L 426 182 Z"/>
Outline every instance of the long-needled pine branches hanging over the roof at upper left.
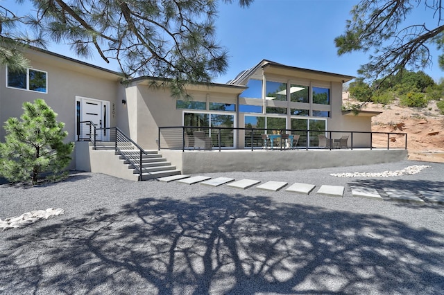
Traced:
<path fill-rule="evenodd" d="M 252 2 L 239 0 L 239 5 Z M 216 0 L 32 3 L 35 15 L 6 17 L 3 12 L 3 18 L 35 28 L 53 42 L 66 42 L 80 56 L 90 57 L 96 52 L 106 62 L 116 60 L 124 78 L 169 79 L 180 91 L 186 82 L 211 82 L 228 66 L 227 51 L 216 42 Z"/>

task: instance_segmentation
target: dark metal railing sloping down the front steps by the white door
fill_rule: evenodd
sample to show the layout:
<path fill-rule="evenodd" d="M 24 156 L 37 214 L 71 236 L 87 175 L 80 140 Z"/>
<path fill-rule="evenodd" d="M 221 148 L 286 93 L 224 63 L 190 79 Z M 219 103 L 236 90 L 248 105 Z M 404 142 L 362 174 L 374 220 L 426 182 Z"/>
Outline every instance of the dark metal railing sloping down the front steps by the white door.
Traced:
<path fill-rule="evenodd" d="M 147 152 L 118 127 L 96 128 L 91 121 L 82 121 L 78 124 L 77 141 L 90 141 L 94 150 L 98 149 L 99 142 L 112 143 L 114 150 L 137 171 L 139 180 L 142 180 L 143 156 Z"/>

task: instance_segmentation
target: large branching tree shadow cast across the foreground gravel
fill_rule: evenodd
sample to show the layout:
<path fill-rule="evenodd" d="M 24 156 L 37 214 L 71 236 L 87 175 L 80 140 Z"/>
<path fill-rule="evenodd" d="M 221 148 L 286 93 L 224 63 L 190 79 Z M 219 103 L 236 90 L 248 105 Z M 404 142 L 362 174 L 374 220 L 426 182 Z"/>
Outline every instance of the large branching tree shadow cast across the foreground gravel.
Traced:
<path fill-rule="evenodd" d="M 119 212 L 10 231 L 0 249 L 6 293 L 444 291 L 443 235 L 260 196 L 139 199 Z"/>

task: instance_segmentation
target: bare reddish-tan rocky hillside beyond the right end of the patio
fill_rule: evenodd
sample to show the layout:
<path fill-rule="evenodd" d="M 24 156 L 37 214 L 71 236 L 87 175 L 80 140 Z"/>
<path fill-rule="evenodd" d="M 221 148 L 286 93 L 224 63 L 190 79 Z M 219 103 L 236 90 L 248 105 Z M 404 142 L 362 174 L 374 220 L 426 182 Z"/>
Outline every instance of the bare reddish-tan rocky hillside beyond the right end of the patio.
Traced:
<path fill-rule="evenodd" d="M 355 101 L 348 97 L 348 93 L 343 93 L 343 102 Z M 382 111 L 372 118 L 373 132 L 407 133 L 409 159 L 444 163 L 444 115 L 436 107 L 436 102 L 429 102 L 425 108 L 401 107 L 398 101 L 385 106 L 369 103 L 364 109 Z M 390 139 L 391 146 L 404 146 L 403 136 Z"/>

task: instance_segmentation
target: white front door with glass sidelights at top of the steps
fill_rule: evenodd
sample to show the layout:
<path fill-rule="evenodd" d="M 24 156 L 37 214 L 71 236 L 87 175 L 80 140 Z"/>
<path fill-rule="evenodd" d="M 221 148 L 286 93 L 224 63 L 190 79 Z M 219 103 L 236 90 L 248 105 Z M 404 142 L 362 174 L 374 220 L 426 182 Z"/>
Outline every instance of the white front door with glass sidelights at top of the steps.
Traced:
<path fill-rule="evenodd" d="M 91 132 L 94 132 L 94 128 L 90 127 L 90 123 L 96 127 L 96 141 L 109 140 L 109 130 L 103 129 L 110 127 L 109 124 L 109 109 L 110 102 L 105 100 L 96 100 L 93 98 L 76 97 L 77 108 L 77 120 L 83 122 L 78 124 L 80 127 L 81 138 L 89 138 L 94 136 Z M 84 123 L 87 122 L 87 123 Z"/>

